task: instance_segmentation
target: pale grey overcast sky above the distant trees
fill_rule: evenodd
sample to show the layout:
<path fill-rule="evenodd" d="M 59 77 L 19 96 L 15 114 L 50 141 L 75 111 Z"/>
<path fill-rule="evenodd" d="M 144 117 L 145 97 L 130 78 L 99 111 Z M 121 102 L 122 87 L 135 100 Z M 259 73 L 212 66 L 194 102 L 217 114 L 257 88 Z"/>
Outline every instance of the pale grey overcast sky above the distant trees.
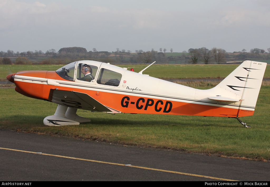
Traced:
<path fill-rule="evenodd" d="M 0 0 L 0 51 L 270 48 L 269 0 Z"/>

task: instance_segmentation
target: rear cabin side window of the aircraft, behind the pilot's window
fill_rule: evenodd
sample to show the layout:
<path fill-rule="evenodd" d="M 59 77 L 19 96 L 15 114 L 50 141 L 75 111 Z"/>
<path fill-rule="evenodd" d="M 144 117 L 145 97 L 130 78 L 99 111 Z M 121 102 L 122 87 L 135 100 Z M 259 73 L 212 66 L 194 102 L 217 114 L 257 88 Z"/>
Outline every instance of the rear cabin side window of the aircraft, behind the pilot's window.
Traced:
<path fill-rule="evenodd" d="M 99 76 L 97 78 L 97 83 L 109 86 L 119 86 L 121 78 L 121 73 L 101 68 L 101 70 L 99 71 Z"/>

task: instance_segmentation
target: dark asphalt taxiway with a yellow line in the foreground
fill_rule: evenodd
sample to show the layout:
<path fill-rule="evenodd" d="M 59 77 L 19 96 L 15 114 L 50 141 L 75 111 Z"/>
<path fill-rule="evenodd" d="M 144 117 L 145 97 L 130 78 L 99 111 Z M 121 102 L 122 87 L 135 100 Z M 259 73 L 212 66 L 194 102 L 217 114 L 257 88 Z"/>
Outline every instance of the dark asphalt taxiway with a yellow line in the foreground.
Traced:
<path fill-rule="evenodd" d="M 269 181 L 269 162 L 0 130 L 0 181 Z"/>

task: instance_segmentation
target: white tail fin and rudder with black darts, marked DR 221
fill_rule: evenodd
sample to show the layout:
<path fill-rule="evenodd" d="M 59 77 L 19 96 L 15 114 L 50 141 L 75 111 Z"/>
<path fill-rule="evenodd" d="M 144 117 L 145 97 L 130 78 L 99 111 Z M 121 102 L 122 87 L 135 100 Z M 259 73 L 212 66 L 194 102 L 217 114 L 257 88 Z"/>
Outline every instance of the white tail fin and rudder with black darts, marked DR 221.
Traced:
<path fill-rule="evenodd" d="M 239 101 L 238 117 L 253 115 L 266 65 L 267 63 L 244 61 L 212 89 Z"/>

